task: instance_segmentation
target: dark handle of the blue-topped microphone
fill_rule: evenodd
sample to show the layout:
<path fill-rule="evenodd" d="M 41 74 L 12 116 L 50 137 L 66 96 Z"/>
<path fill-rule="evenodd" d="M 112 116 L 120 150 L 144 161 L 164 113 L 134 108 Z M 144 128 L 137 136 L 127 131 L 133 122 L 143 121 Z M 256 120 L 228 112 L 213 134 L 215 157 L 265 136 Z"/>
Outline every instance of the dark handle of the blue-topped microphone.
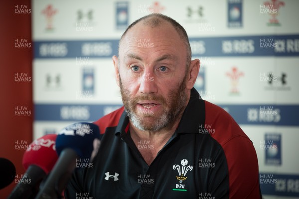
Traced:
<path fill-rule="evenodd" d="M 78 155 L 73 149 L 64 149 L 35 199 L 60 198 L 72 172 L 76 168 L 77 158 Z"/>

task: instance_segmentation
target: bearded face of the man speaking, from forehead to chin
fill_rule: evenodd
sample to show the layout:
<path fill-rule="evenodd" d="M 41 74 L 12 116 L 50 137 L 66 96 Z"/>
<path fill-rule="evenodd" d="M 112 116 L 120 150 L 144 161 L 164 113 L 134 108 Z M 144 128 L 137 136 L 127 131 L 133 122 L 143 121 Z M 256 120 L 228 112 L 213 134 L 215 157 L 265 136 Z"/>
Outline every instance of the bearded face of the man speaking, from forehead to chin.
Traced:
<path fill-rule="evenodd" d="M 186 47 L 168 23 L 152 28 L 136 24 L 119 49 L 119 85 L 132 124 L 157 131 L 184 110 Z"/>

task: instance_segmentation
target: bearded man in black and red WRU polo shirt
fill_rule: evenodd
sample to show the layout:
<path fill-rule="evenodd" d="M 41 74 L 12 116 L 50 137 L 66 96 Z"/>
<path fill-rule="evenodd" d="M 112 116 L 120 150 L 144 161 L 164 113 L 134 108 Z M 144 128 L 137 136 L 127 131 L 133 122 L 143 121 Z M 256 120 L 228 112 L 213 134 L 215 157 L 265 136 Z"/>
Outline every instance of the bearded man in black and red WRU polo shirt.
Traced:
<path fill-rule="evenodd" d="M 99 152 L 74 173 L 66 198 L 260 198 L 252 142 L 193 88 L 200 62 L 181 25 L 161 14 L 135 21 L 113 64 L 124 108 L 95 122 Z"/>

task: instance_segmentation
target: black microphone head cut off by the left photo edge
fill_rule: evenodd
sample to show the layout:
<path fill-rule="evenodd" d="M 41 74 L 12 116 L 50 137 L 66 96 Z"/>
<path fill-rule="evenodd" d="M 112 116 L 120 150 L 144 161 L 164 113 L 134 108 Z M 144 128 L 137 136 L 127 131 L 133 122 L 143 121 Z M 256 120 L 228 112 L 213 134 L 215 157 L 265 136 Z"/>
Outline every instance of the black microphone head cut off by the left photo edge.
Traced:
<path fill-rule="evenodd" d="M 16 173 L 15 166 L 10 160 L 6 158 L 0 158 L 0 172 L 0 189 L 2 189 L 12 183 L 14 180 Z"/>

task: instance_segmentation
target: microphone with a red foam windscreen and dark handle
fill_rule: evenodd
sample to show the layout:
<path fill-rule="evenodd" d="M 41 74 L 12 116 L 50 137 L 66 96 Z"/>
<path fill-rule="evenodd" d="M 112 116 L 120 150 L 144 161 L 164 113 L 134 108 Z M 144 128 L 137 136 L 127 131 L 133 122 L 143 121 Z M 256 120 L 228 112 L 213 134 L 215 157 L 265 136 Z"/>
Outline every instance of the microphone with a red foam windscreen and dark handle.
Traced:
<path fill-rule="evenodd" d="M 26 172 L 15 179 L 14 187 L 8 199 L 28 199 L 38 192 L 40 182 L 52 170 L 58 155 L 55 149 L 56 134 L 48 134 L 33 141 L 23 156 Z"/>

